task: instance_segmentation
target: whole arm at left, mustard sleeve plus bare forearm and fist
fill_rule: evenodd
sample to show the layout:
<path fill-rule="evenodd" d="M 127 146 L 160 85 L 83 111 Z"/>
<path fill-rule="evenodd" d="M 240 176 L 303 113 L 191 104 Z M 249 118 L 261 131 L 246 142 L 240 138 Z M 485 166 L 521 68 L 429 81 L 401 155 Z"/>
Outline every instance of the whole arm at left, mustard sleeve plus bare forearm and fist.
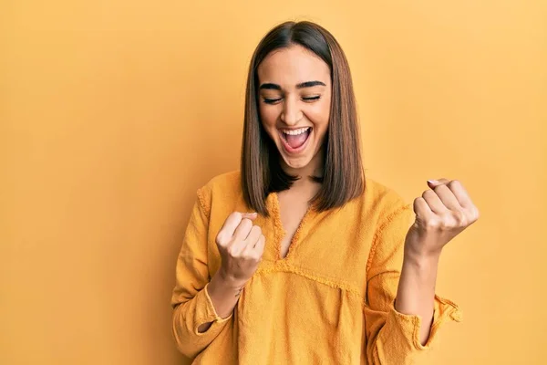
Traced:
<path fill-rule="evenodd" d="M 209 211 L 202 194 L 200 189 L 191 211 L 177 261 L 171 299 L 173 335 L 178 349 L 189 358 L 209 346 L 232 318 L 239 298 L 237 294 L 254 272 L 252 270 L 249 275 L 248 269 L 258 265 L 263 252 L 260 228 L 253 226 L 244 214 L 231 214 L 217 236 L 222 266 L 210 282 L 207 258 Z"/>

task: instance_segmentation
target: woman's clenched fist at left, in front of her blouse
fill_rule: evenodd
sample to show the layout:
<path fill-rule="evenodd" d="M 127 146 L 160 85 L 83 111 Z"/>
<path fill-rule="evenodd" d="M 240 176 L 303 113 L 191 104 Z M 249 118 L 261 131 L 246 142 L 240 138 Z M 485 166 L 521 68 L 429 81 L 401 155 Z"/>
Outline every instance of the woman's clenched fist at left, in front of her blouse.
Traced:
<path fill-rule="evenodd" d="M 265 237 L 262 229 L 253 225 L 256 216 L 233 212 L 216 237 L 222 258 L 219 275 L 231 287 L 243 287 L 262 260 Z"/>

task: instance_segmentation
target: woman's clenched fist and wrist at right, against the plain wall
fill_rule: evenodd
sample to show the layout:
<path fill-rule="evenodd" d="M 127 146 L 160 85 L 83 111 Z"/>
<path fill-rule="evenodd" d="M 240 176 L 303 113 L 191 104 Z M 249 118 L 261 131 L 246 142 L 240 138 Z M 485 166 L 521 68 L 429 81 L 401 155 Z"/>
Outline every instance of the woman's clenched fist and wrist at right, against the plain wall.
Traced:
<path fill-rule="evenodd" d="M 414 200 L 416 221 L 408 230 L 406 255 L 438 258 L 444 245 L 479 219 L 479 210 L 458 180 L 428 181 L 430 189 Z"/>

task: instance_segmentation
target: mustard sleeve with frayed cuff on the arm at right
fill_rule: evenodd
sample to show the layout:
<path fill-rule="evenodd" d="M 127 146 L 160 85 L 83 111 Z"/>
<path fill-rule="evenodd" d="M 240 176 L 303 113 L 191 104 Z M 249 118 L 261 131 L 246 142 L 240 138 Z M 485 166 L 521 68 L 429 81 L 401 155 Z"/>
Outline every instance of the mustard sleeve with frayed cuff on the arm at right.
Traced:
<path fill-rule="evenodd" d="M 400 205 L 380 223 L 366 267 L 366 358 L 369 364 L 415 364 L 428 352 L 439 325 L 460 321 L 458 306 L 435 296 L 433 324 L 428 342 L 419 341 L 419 316 L 397 312 L 394 301 L 403 263 L 405 237 L 414 214 L 411 205 Z"/>

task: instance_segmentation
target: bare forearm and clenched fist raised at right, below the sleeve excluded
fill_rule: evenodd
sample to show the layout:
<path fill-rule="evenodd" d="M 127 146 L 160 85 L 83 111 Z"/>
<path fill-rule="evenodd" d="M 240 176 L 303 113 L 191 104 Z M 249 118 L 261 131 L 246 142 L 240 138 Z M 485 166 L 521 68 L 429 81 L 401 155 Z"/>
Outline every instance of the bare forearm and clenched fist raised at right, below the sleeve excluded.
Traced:
<path fill-rule="evenodd" d="M 419 339 L 428 341 L 433 321 L 435 283 L 442 248 L 479 219 L 479 210 L 457 180 L 429 181 L 414 200 L 416 221 L 405 239 L 405 254 L 395 309 L 421 320 Z"/>

